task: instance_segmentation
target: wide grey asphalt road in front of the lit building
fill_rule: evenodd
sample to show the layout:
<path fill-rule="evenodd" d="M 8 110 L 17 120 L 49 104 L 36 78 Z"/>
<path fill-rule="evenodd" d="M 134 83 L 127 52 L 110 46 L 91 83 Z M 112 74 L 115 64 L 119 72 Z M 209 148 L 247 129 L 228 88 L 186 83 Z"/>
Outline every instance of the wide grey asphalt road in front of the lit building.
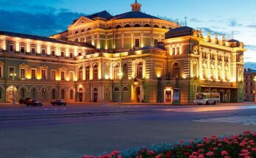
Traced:
<path fill-rule="evenodd" d="M 0 157 L 83 154 L 256 131 L 256 105 L 0 106 Z"/>

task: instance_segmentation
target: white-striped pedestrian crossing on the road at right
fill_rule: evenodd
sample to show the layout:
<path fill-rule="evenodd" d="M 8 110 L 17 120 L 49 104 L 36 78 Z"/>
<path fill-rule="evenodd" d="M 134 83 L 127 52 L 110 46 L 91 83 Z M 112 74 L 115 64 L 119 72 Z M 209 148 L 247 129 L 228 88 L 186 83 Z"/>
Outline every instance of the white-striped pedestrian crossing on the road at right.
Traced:
<path fill-rule="evenodd" d="M 256 116 L 232 116 L 224 118 L 207 118 L 193 121 L 203 123 L 238 123 L 242 125 L 256 125 Z"/>

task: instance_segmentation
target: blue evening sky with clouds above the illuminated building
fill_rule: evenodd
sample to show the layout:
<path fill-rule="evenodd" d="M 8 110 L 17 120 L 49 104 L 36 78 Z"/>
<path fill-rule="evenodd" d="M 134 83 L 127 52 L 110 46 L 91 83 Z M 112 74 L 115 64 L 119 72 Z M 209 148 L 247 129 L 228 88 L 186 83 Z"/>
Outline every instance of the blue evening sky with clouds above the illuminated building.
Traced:
<path fill-rule="evenodd" d="M 81 15 L 107 10 L 129 12 L 134 0 L 0 0 L 0 30 L 49 36 Z M 142 12 L 185 21 L 195 29 L 226 35 L 246 44 L 245 62 L 256 57 L 255 0 L 138 0 Z M 256 64 L 255 64 L 256 68 Z"/>

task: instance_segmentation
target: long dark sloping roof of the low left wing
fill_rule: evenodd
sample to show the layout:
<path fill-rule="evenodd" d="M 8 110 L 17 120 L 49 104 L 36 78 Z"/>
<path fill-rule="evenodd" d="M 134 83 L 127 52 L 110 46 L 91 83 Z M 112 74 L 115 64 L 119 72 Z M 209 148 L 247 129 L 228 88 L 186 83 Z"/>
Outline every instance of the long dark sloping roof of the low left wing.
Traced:
<path fill-rule="evenodd" d="M 26 34 L 20 34 L 20 33 L 15 33 L 15 32 L 0 31 L 0 35 L 6 35 L 6 36 L 10 36 L 10 37 L 21 37 L 21 38 L 26 38 L 26 39 L 30 39 L 30 40 L 41 40 L 41 41 L 46 41 L 46 42 L 68 44 L 68 45 L 74 45 L 74 46 L 85 46 L 85 47 L 93 48 L 93 49 L 95 48 L 93 45 L 91 45 L 89 43 L 78 43 L 78 42 L 72 42 L 72 41 L 68 41 L 68 40 L 57 40 L 57 39 L 50 38 L 50 37 L 26 35 Z"/>

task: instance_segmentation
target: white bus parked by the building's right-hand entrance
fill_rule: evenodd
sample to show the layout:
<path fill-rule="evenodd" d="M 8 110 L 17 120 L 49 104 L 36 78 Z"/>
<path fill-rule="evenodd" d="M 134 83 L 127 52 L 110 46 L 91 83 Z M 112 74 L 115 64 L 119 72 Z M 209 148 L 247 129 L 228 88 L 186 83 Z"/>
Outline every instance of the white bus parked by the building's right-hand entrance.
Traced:
<path fill-rule="evenodd" d="M 221 98 L 219 93 L 196 93 L 194 103 L 202 105 L 218 104 Z"/>

